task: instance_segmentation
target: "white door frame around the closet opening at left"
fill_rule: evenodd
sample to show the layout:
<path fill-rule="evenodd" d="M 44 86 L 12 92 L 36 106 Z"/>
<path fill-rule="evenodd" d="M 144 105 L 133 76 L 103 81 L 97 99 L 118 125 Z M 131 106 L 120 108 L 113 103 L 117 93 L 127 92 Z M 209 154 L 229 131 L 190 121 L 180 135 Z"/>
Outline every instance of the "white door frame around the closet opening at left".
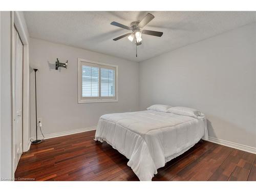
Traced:
<path fill-rule="evenodd" d="M 14 88 L 13 88 L 13 67 L 15 66 L 15 42 L 14 42 L 14 26 L 16 27 L 16 30 L 18 31 L 20 40 L 23 42 L 23 152 L 27 152 L 30 147 L 30 123 L 29 123 L 29 35 L 28 35 L 28 29 L 26 26 L 26 21 L 24 18 L 24 15 L 20 11 L 12 11 L 11 12 L 11 43 L 12 43 L 12 66 L 11 66 L 11 85 L 12 85 L 12 98 L 14 94 Z M 14 106 L 12 101 L 12 177 L 14 178 L 15 173 L 15 167 L 14 167 L 14 141 L 13 141 L 13 134 L 14 134 L 14 126 L 13 126 L 13 120 L 14 120 Z"/>

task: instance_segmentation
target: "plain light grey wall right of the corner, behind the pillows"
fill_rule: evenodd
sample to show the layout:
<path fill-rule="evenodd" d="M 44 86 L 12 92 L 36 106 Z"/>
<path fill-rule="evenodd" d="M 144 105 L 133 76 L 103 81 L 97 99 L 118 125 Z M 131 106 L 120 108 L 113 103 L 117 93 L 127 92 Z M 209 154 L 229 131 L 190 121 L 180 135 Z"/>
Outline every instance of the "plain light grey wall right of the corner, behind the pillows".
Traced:
<path fill-rule="evenodd" d="M 205 113 L 209 136 L 256 147 L 255 23 L 139 63 L 140 110 Z"/>

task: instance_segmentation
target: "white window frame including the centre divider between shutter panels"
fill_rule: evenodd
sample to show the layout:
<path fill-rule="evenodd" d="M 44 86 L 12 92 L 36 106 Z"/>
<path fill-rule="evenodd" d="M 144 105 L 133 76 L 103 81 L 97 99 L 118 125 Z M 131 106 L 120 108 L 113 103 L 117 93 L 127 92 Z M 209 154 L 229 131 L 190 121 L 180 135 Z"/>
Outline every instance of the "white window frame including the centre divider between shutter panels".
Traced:
<path fill-rule="evenodd" d="M 82 62 L 86 62 L 91 66 L 99 67 L 99 94 L 101 91 L 101 68 L 115 69 L 115 97 L 82 97 Z M 89 66 L 89 65 L 88 65 Z M 78 103 L 100 103 L 100 102 L 118 102 L 118 66 L 109 63 L 93 61 L 89 59 L 77 59 L 77 95 Z"/>

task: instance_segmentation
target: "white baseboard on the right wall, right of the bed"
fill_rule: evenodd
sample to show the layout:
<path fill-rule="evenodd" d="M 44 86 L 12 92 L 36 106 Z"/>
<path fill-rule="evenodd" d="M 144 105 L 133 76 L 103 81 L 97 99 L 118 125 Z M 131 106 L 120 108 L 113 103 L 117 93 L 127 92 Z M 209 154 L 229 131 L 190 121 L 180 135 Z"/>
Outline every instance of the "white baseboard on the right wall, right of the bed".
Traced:
<path fill-rule="evenodd" d="M 242 151 L 245 151 L 245 152 L 256 154 L 256 148 L 251 147 L 251 146 L 246 146 L 246 145 L 242 145 L 242 144 L 238 144 L 238 143 L 233 143 L 233 142 L 230 142 L 230 141 L 225 141 L 225 140 L 217 139 L 217 138 L 213 138 L 213 137 L 209 137 L 208 141 L 213 142 L 213 143 L 217 143 L 217 144 L 220 144 L 220 145 L 236 148 L 237 150 L 242 150 Z"/>

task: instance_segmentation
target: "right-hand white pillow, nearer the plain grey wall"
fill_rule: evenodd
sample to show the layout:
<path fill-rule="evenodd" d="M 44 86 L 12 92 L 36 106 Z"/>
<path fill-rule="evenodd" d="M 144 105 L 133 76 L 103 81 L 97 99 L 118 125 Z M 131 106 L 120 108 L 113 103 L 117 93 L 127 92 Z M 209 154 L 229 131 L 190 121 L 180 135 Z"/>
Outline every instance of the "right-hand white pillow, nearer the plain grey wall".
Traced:
<path fill-rule="evenodd" d="M 173 108 L 169 108 L 167 112 L 177 114 L 177 115 L 195 117 L 195 118 L 204 116 L 204 114 L 201 113 L 200 111 L 192 108 L 186 108 L 185 106 L 174 106 Z"/>

